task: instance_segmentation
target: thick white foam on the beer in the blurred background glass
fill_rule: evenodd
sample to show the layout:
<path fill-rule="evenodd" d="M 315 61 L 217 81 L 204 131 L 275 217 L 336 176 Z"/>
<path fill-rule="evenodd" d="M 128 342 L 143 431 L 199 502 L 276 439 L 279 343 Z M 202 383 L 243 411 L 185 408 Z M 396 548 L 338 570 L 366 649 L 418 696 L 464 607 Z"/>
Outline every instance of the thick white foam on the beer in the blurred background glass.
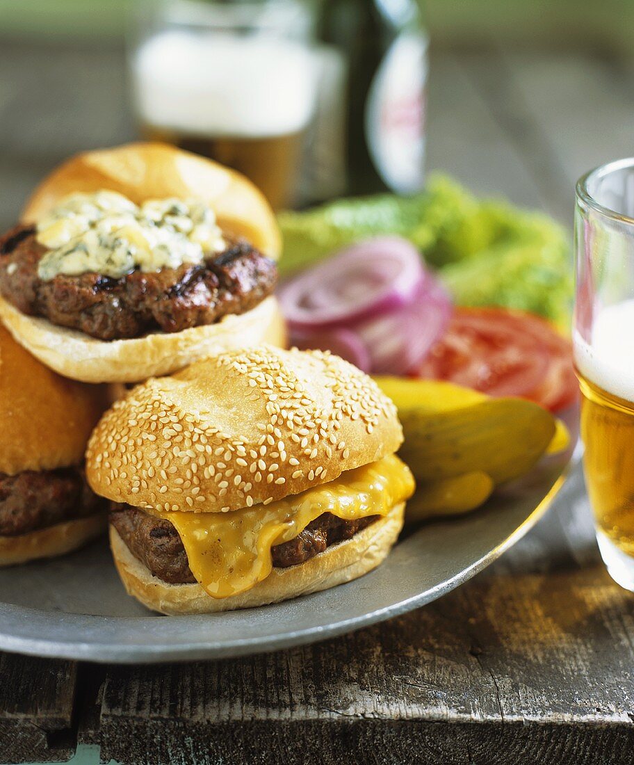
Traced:
<path fill-rule="evenodd" d="M 216 138 L 300 132 L 314 108 L 307 48 L 272 37 L 170 31 L 133 62 L 139 116 L 154 127 Z"/>

